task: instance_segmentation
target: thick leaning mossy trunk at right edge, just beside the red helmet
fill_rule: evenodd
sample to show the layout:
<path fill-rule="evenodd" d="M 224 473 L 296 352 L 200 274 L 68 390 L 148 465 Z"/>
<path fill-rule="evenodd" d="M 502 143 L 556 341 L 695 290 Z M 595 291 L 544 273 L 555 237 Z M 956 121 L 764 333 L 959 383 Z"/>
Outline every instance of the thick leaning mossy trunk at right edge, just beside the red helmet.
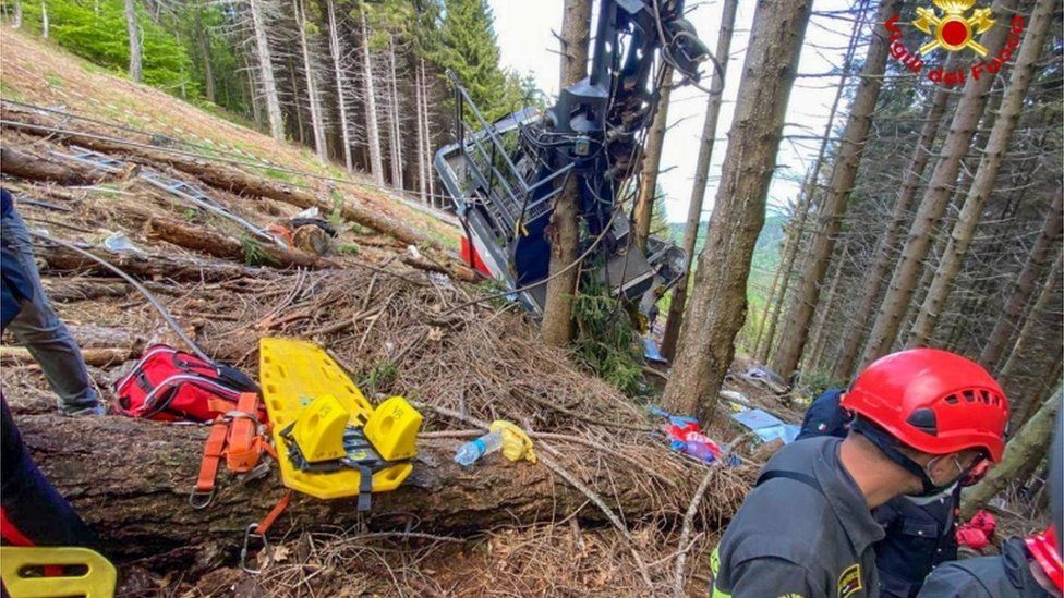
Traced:
<path fill-rule="evenodd" d="M 1036 467 L 1045 456 L 1047 448 L 1053 441 L 1053 424 L 1056 422 L 1056 412 L 1061 408 L 1061 387 L 1057 387 L 1053 398 L 1008 441 L 1001 463 L 992 467 L 979 484 L 962 493 L 962 518 L 971 517 L 977 509 L 990 502 L 1009 481 L 1017 479 L 1019 473 L 1027 467 Z M 1030 465 L 1031 463 L 1035 465 Z"/>

